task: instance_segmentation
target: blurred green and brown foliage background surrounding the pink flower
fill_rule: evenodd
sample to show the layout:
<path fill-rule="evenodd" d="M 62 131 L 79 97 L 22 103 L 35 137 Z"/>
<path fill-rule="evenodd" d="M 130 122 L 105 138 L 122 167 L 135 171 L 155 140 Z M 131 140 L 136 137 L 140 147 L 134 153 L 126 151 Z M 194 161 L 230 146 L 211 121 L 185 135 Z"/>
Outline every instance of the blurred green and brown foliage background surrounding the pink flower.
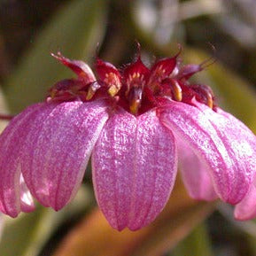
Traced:
<path fill-rule="evenodd" d="M 146 64 L 175 54 L 177 43 L 184 62 L 214 56 L 194 79 L 256 132 L 255 0 L 1 0 L 0 112 L 20 112 L 73 75 L 50 52 L 122 66 L 133 60 L 136 41 Z M 191 200 L 180 182 L 167 210 L 142 231 L 113 231 L 96 207 L 88 170 L 59 213 L 38 206 L 15 220 L 3 217 L 0 256 L 256 255 L 255 221 L 234 221 L 231 206 Z"/>

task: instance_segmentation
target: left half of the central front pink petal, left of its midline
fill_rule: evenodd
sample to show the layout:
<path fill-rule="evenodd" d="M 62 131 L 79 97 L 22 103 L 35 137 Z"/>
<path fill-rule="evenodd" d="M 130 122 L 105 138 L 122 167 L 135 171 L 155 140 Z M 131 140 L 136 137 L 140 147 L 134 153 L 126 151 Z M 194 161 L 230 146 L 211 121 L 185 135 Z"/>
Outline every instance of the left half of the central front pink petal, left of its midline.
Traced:
<path fill-rule="evenodd" d="M 92 174 L 98 206 L 114 229 L 124 229 L 131 204 L 136 117 L 112 115 L 92 152 Z"/>

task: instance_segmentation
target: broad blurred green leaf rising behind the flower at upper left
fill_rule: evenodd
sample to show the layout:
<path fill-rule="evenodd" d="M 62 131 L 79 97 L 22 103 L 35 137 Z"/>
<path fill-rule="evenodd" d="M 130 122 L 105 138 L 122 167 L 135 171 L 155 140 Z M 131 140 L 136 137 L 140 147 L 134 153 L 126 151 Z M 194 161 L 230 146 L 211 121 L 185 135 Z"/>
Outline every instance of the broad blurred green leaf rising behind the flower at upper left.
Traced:
<path fill-rule="evenodd" d="M 71 76 L 50 52 L 90 60 L 105 31 L 105 5 L 104 0 L 76 0 L 56 13 L 4 84 L 12 112 L 43 100 L 54 82 Z"/>

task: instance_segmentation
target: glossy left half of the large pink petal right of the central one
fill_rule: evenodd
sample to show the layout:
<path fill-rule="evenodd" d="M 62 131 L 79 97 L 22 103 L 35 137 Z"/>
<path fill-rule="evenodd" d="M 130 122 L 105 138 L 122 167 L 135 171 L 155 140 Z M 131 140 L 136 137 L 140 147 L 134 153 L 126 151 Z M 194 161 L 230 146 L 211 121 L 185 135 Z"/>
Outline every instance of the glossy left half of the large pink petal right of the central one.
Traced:
<path fill-rule="evenodd" d="M 174 101 L 160 108 L 159 115 L 167 128 L 187 144 L 206 165 L 206 171 L 210 171 L 218 196 L 224 201 L 234 203 L 233 197 L 229 198 L 234 182 L 233 172 L 230 172 L 231 161 L 207 116 L 197 107 Z"/>

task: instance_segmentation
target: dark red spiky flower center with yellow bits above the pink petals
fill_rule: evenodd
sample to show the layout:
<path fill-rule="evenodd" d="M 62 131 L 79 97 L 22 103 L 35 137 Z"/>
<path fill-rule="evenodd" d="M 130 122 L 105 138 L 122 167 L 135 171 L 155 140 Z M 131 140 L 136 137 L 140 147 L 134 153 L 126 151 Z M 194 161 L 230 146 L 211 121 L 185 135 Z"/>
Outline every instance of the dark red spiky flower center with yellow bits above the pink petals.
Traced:
<path fill-rule="evenodd" d="M 193 99 L 196 99 L 213 109 L 212 89 L 203 84 L 190 84 L 189 81 L 193 74 L 212 62 L 207 60 L 200 65 L 182 66 L 179 54 L 180 52 L 173 58 L 159 59 L 151 67 L 144 65 L 139 54 L 135 62 L 122 70 L 97 58 L 97 77 L 82 61 L 70 60 L 60 53 L 57 56 L 52 55 L 71 68 L 77 78 L 58 81 L 50 88 L 48 100 L 80 99 L 86 102 L 105 98 L 113 107 L 119 105 L 134 115 L 166 104 L 168 100 L 193 105 Z"/>

